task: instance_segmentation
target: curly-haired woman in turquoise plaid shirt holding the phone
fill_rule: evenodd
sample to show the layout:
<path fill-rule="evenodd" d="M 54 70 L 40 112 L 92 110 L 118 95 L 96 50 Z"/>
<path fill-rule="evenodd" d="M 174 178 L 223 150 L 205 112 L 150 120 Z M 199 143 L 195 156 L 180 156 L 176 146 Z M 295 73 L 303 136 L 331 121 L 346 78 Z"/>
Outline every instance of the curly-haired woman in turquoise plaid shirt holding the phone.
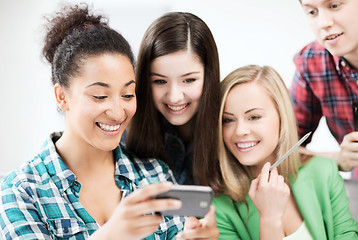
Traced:
<path fill-rule="evenodd" d="M 165 217 L 179 200 L 172 172 L 118 145 L 136 111 L 134 57 L 128 42 L 87 5 L 49 20 L 43 54 L 51 63 L 66 129 L 1 184 L 5 239 L 217 239 L 215 210 L 203 219 Z M 184 224 L 185 221 L 185 224 Z"/>

